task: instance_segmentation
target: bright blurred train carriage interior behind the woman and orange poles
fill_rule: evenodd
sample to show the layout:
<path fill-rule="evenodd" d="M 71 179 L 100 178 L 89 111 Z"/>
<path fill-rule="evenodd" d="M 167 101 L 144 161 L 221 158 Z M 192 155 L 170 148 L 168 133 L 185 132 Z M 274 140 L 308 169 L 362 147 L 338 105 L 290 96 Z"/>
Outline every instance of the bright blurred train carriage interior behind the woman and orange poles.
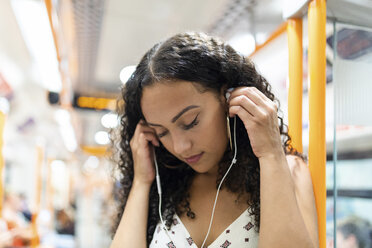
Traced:
<path fill-rule="evenodd" d="M 107 151 L 120 125 L 120 89 L 141 55 L 175 33 L 207 32 L 251 58 L 288 123 L 283 6 L 1 0 L 0 247 L 109 247 L 119 186 Z M 302 16 L 306 155 L 309 23 Z M 346 247 L 345 222 L 369 223 L 372 233 L 372 2 L 327 1 L 326 37 L 326 238 L 327 247 Z"/>

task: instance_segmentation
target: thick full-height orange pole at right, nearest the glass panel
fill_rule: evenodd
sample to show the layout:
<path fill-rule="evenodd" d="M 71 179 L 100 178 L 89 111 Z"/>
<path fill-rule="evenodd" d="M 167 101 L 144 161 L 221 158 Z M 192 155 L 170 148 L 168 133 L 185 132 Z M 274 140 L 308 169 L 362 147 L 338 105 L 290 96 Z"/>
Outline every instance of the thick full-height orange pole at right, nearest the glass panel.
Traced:
<path fill-rule="evenodd" d="M 318 213 L 319 247 L 326 247 L 326 0 L 309 3 L 309 167 Z"/>

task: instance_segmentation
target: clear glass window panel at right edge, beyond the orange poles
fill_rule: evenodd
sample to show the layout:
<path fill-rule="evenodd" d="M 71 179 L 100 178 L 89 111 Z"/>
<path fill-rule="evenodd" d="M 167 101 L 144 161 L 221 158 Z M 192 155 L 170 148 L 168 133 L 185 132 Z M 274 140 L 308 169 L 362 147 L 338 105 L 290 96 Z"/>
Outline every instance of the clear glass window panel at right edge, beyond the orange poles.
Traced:
<path fill-rule="evenodd" d="M 372 29 L 335 23 L 333 149 L 327 170 L 327 247 L 371 247 Z"/>

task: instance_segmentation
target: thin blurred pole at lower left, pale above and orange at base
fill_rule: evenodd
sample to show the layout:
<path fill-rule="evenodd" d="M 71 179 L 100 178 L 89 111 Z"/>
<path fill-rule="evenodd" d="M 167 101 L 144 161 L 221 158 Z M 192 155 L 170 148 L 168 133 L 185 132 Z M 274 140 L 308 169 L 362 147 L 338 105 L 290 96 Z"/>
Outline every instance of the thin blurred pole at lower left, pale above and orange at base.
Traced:
<path fill-rule="evenodd" d="M 41 169 L 43 165 L 44 160 L 44 151 L 41 146 L 37 147 L 37 162 L 36 162 L 36 168 L 35 168 L 35 177 L 36 177 L 36 185 L 35 185 L 35 209 L 32 213 L 31 218 L 31 228 L 32 228 L 32 234 L 33 238 L 31 240 L 31 247 L 35 248 L 40 244 L 40 239 L 37 231 L 37 218 L 40 213 L 40 203 L 41 203 Z"/>

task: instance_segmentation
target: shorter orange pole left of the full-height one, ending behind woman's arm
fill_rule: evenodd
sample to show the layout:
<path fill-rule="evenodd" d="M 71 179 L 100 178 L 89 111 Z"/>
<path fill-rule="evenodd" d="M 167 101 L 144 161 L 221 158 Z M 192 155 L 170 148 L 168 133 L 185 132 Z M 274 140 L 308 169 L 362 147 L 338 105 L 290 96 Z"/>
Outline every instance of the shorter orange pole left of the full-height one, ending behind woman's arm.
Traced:
<path fill-rule="evenodd" d="M 288 127 L 292 146 L 302 152 L 302 19 L 288 20 Z"/>

